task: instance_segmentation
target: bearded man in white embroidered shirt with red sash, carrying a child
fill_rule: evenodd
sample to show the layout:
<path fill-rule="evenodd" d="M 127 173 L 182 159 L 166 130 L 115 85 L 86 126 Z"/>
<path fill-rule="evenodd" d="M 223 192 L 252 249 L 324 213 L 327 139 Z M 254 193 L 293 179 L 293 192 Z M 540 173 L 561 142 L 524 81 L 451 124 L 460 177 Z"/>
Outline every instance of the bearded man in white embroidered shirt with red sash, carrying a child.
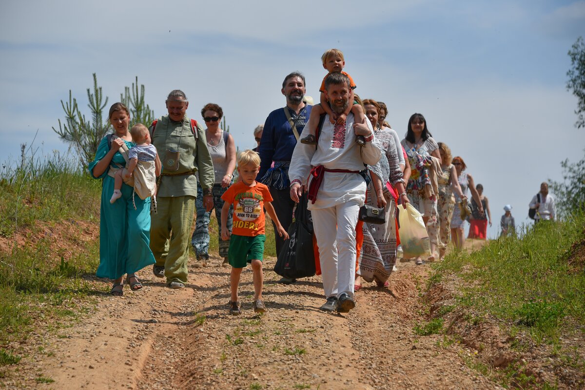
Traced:
<path fill-rule="evenodd" d="M 349 88 L 349 79 L 343 74 L 333 73 L 325 79 L 325 96 L 333 112 L 342 113 L 353 103 L 348 101 Z M 355 307 L 357 214 L 366 199 L 366 182 L 359 172 L 364 163 L 378 162 L 381 144 L 369 121 L 366 120 L 367 127 L 354 128 L 351 113 L 342 124 L 332 124 L 328 115 L 321 122 L 316 149 L 315 145 L 299 142 L 292 153 L 288 171 L 290 193 L 291 199 L 298 202 L 310 173 L 308 208 L 313 217 L 327 298 L 321 309 L 345 313 Z M 305 127 L 301 138 L 306 135 Z M 366 137 L 365 146 L 355 143 L 357 135 Z"/>

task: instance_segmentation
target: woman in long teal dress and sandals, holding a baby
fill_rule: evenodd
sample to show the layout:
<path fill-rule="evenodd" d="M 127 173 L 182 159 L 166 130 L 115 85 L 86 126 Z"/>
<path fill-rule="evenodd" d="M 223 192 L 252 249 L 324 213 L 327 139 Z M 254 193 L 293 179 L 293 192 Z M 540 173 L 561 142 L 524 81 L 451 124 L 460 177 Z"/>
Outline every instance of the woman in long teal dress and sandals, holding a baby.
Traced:
<path fill-rule="evenodd" d="M 102 179 L 102 197 L 99 207 L 99 266 L 98 277 L 113 279 L 112 295 L 123 294 L 122 279 L 131 290 L 140 290 L 142 284 L 136 271 L 154 264 L 150 243 L 150 198 L 146 200 L 135 196 L 136 210 L 132 205 L 133 187 L 122 184 L 122 197 L 115 203 L 109 199 L 113 193 L 113 172 L 126 161 L 118 151 L 122 144 L 128 148 L 134 145 L 128 131 L 130 115 L 122 103 L 114 103 L 109 110 L 109 120 L 114 134 L 119 138 L 107 137 L 99 142 L 95 160 L 90 163 L 90 175 Z M 110 176 L 112 175 L 112 176 Z"/>

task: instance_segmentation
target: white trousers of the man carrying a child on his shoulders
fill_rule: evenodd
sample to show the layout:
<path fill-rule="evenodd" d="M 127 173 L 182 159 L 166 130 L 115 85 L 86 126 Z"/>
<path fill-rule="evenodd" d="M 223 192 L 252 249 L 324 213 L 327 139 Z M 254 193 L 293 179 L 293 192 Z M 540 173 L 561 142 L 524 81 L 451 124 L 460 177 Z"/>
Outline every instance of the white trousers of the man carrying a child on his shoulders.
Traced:
<path fill-rule="evenodd" d="M 311 210 L 326 298 L 342 293 L 353 298 L 359 210 L 353 202 Z"/>

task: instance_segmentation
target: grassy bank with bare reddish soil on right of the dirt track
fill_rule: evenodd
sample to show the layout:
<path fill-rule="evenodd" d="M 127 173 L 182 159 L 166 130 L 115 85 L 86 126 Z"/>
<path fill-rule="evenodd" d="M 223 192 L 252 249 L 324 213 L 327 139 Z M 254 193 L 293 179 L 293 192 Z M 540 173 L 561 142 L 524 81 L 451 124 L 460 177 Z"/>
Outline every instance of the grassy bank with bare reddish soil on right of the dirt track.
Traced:
<path fill-rule="evenodd" d="M 585 386 L 584 227 L 576 213 L 447 256 L 433 266 L 421 334 L 466 344 L 468 363 L 505 386 Z"/>

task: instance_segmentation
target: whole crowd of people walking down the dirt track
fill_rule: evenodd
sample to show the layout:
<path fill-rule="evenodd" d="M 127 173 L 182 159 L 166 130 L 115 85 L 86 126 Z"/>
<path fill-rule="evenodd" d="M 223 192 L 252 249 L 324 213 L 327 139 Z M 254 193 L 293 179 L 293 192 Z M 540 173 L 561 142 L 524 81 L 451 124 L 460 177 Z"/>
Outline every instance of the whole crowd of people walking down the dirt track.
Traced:
<path fill-rule="evenodd" d="M 433 138 L 421 113 L 412 114 L 405 128 L 391 128 L 383 102 L 355 93 L 340 50 L 327 50 L 322 62 L 328 73 L 319 89 L 321 103 L 312 105 L 304 75 L 291 72 L 281 89 L 285 106 L 254 129 L 256 147 L 239 153 L 221 128 L 222 107 L 202 107 L 204 127 L 188 116 L 189 100 L 181 90 L 168 94 L 168 113 L 145 124 L 148 128 L 140 124 L 129 131 L 128 108 L 112 105 L 114 134 L 101 140 L 89 164 L 92 177 L 103 180 L 97 276 L 113 280 L 112 295 L 123 294 L 124 276 L 131 290 L 142 289 L 136 272 L 147 266 L 168 288 L 184 288 L 190 246 L 194 267 L 207 266 L 214 209 L 219 256 L 231 267 L 234 315 L 241 313 L 238 285 L 247 264 L 253 270 L 254 311 L 267 310 L 265 213 L 281 253 L 300 201 L 312 215 L 325 297 L 321 309 L 328 312 L 353 309 L 363 281 L 388 285 L 400 245 L 398 215 L 408 204 L 424 222 L 430 247 L 411 259 L 417 265 L 442 260 L 450 242 L 462 248 L 467 221 L 469 238 L 487 238 L 490 204 L 462 156 L 452 156 L 448 145 Z M 152 191 L 138 190 L 135 183 L 144 182 Z M 529 207 L 536 221 L 555 218 L 546 183 Z M 515 234 L 511 209 L 504 207 L 501 236 Z M 381 223 L 364 219 L 363 210 L 383 217 Z"/>

